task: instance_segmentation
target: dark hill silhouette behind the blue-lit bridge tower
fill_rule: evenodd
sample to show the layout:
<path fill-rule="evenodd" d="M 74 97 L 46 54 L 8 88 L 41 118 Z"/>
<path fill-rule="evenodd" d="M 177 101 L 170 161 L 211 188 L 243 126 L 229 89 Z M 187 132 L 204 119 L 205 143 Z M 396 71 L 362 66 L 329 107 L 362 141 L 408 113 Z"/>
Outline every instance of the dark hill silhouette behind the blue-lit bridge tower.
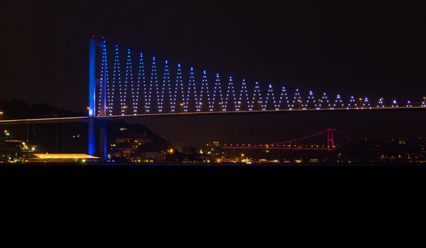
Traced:
<path fill-rule="evenodd" d="M 2 119 L 31 119 L 55 117 L 82 117 L 87 113 L 52 107 L 48 104 L 28 104 L 18 99 L 11 101 L 0 99 Z M 49 152 L 87 152 L 87 124 L 28 124 L 2 126 L 13 139 L 22 139 L 43 147 Z M 125 130 L 125 131 L 123 131 Z M 146 151 L 165 151 L 170 143 L 163 137 L 141 124 L 127 124 L 123 120 L 110 120 L 107 123 L 108 146 L 117 138 L 131 138 L 134 134 L 145 134 L 151 143 L 144 147 Z M 3 135 L 3 134 L 0 134 Z"/>

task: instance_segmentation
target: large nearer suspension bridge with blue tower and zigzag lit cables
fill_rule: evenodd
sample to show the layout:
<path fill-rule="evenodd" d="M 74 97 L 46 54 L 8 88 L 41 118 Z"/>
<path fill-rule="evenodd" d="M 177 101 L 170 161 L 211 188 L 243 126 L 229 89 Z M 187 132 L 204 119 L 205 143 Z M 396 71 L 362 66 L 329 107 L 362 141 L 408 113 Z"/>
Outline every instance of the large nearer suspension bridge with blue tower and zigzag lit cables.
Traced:
<path fill-rule="evenodd" d="M 143 53 L 122 50 L 119 45 L 109 46 L 104 37 L 93 36 L 89 39 L 87 116 L 1 119 L 0 125 L 88 122 L 88 153 L 94 155 L 96 151 L 95 132 L 99 129 L 99 155 L 106 158 L 104 121 L 108 119 L 185 114 L 426 109 L 426 97 L 405 101 L 383 97 L 372 101 L 366 96 L 343 97 L 339 94 L 330 97 L 326 92 L 290 91 L 285 86 L 267 85 L 263 88 L 259 82 L 249 84 L 244 79 L 234 84 L 232 77 L 223 78 L 217 73 L 209 75 L 207 70 L 202 70 L 199 75 L 194 68 L 187 70 L 189 76 L 184 80 L 182 65 L 172 68 L 168 60 L 164 60 L 162 73 L 159 73 L 158 63 L 155 57 L 148 59 Z M 171 71 L 175 72 L 174 80 L 171 80 Z M 226 83 L 222 83 L 223 80 Z M 249 85 L 252 85 L 252 90 L 249 90 Z"/>

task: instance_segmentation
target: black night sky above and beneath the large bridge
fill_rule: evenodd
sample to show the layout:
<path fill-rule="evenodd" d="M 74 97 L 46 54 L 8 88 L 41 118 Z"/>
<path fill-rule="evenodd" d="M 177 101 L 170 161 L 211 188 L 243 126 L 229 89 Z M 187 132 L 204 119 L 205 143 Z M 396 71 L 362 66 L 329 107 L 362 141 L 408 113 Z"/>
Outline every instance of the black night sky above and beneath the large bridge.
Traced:
<path fill-rule="evenodd" d="M 92 35 L 170 63 L 264 85 L 367 96 L 373 104 L 377 97 L 420 102 L 426 96 L 425 17 L 408 1 L 105 3 L 4 4 L 0 98 L 84 111 Z M 280 141 L 327 127 L 354 139 L 425 136 L 424 116 L 302 113 L 138 121 L 177 144 L 200 145 Z"/>

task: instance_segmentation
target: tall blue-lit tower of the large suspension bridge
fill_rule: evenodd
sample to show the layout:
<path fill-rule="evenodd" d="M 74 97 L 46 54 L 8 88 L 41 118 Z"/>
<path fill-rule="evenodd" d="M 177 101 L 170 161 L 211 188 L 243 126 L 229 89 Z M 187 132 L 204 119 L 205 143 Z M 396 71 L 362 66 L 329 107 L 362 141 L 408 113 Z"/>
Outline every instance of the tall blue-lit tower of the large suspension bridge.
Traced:
<path fill-rule="evenodd" d="M 96 131 L 99 129 L 99 156 L 107 158 L 107 123 L 97 119 L 95 115 L 107 115 L 107 42 L 102 39 L 98 41 L 94 36 L 89 39 L 89 139 L 88 151 L 89 155 L 96 152 Z M 97 55 L 102 54 L 101 70 L 97 73 L 96 63 Z M 99 91 L 99 108 L 96 108 L 96 92 Z"/>

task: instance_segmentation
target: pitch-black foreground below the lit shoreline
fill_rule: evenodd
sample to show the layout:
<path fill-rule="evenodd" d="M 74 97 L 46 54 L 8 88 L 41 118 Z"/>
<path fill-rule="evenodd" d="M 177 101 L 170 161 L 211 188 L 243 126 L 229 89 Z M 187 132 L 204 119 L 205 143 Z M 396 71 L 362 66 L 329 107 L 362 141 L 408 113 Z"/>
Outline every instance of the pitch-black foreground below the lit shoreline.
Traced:
<path fill-rule="evenodd" d="M 1 236 L 14 247 L 271 247 L 274 238 L 342 245 L 408 230 L 416 237 L 425 178 L 421 165 L 0 166 Z"/>

